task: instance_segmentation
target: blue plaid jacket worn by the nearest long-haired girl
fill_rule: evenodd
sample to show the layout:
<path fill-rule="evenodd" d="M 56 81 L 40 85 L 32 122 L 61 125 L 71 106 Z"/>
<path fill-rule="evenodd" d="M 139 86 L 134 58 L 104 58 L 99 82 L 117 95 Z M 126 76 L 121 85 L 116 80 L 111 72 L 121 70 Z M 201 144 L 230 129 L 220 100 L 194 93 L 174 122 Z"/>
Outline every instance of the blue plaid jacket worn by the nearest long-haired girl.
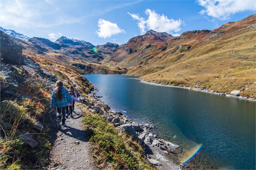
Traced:
<path fill-rule="evenodd" d="M 61 88 L 61 94 L 62 94 L 62 99 L 58 100 L 55 97 L 55 90 L 53 90 L 52 98 L 51 98 L 51 108 L 65 107 L 69 103 L 72 103 L 71 95 L 69 94 L 69 92 L 66 88 L 64 88 L 64 87 Z"/>

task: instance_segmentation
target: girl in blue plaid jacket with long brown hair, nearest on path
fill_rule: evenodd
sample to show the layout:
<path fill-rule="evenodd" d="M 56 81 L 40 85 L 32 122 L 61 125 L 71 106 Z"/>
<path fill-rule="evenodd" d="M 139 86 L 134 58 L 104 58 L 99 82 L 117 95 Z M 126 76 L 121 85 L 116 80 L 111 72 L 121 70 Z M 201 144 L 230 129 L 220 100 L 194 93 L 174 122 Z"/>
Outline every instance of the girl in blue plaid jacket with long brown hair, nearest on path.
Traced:
<path fill-rule="evenodd" d="M 55 86 L 56 88 L 52 92 L 50 107 L 52 110 L 55 110 L 57 108 L 56 125 L 60 125 L 60 115 L 62 114 L 62 126 L 65 126 L 66 107 L 68 104 L 72 104 L 72 98 L 68 90 L 63 87 L 63 83 L 61 81 L 58 80 Z"/>

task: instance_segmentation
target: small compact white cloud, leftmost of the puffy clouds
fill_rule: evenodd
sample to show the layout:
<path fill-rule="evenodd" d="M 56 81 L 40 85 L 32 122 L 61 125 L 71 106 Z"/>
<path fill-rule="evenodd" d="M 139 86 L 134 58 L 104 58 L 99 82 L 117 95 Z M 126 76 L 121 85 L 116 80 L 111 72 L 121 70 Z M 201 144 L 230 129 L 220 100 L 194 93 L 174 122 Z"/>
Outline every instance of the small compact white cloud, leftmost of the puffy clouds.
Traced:
<path fill-rule="evenodd" d="M 98 27 L 99 29 L 98 31 L 96 31 L 96 34 L 98 34 L 100 38 L 104 38 L 104 39 L 109 38 L 112 35 L 125 33 L 125 30 L 119 28 L 116 23 L 111 23 L 102 18 L 98 20 Z"/>

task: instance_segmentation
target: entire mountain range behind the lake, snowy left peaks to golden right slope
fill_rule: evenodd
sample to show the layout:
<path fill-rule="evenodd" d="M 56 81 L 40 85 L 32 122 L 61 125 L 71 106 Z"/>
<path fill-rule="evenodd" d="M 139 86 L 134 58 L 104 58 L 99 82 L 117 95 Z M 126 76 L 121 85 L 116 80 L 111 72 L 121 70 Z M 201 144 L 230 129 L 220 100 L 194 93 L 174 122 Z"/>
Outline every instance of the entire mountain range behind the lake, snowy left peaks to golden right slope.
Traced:
<path fill-rule="evenodd" d="M 1 29 L 13 37 L 26 37 Z M 241 90 L 243 96 L 256 97 L 255 34 L 256 14 L 214 30 L 185 31 L 178 37 L 150 30 L 122 45 L 94 46 L 63 36 L 55 42 L 38 37 L 13 41 L 27 53 L 57 57 L 87 73 L 124 74 L 128 70 L 127 74 L 150 82 L 216 92 Z"/>

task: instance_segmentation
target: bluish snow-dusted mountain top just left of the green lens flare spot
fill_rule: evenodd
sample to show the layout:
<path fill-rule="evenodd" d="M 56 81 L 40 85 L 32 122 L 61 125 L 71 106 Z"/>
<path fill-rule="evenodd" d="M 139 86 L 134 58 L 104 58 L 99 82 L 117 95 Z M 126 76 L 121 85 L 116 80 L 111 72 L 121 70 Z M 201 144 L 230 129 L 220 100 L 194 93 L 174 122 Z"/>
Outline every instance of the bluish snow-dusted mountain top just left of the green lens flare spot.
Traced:
<path fill-rule="evenodd" d="M 89 42 L 86 42 L 86 41 L 83 41 L 83 40 L 77 40 L 77 39 L 69 39 L 69 38 L 64 37 L 64 36 L 57 39 L 55 41 L 55 43 L 58 43 L 60 45 L 65 44 L 65 45 L 70 45 L 70 46 L 81 45 L 81 46 L 87 46 L 89 48 L 95 47 L 94 45 L 92 45 Z"/>

